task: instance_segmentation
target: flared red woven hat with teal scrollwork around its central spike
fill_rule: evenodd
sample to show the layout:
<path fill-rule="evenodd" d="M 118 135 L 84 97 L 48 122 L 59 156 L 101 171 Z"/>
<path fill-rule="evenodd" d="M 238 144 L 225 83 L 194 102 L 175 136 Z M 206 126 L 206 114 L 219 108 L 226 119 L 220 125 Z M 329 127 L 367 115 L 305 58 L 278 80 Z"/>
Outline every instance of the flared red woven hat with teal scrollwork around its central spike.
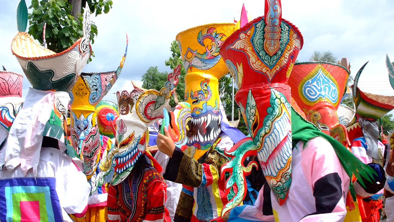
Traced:
<path fill-rule="evenodd" d="M 281 19 L 279 47 L 268 52 L 268 33 L 264 17 L 258 17 L 236 30 L 223 43 L 219 54 L 234 77 L 238 88 L 251 88 L 261 83 L 287 83 L 296 62 L 303 37 L 294 24 Z M 279 40 L 278 40 L 279 41 Z M 273 53 L 270 55 L 269 53 Z"/>

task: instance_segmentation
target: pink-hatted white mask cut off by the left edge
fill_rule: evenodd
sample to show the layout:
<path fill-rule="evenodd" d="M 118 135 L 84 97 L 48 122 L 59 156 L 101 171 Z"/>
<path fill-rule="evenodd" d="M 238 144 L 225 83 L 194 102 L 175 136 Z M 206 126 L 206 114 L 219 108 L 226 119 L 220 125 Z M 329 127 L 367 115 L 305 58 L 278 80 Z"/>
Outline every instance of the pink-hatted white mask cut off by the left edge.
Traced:
<path fill-rule="evenodd" d="M 22 79 L 19 73 L 0 71 L 0 149 L 24 101 Z"/>

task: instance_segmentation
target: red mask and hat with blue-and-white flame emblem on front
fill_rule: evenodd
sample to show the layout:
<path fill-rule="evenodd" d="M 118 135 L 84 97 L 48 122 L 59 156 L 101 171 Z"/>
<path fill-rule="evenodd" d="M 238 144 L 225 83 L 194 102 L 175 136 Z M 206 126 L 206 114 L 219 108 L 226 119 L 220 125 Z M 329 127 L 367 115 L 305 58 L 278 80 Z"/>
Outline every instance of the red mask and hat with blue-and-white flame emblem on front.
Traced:
<path fill-rule="evenodd" d="M 336 109 L 348 83 L 349 71 L 328 62 L 301 62 L 294 65 L 288 84 L 292 97 L 307 120 L 322 132 L 350 145 L 345 126 L 339 124 Z"/>

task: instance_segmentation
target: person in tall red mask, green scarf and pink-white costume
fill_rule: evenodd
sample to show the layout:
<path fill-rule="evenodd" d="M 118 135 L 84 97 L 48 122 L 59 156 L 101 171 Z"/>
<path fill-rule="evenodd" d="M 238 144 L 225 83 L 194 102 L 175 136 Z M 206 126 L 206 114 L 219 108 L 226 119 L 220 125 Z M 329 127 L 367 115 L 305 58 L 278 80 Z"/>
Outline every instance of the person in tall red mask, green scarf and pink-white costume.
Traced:
<path fill-rule="evenodd" d="M 222 174 L 230 173 L 227 193 L 232 187 L 237 193 L 223 211 L 230 211 L 245 196 L 245 175 L 257 164 L 244 166 L 247 156 L 257 155 L 267 181 L 255 206 L 235 207 L 228 220 L 343 221 L 350 176 L 372 175 L 372 169 L 352 158 L 346 147 L 305 120 L 291 98 L 287 81 L 302 45 L 296 26 L 282 19 L 280 1 L 265 1 L 265 17 L 235 31 L 219 52 L 238 84 L 235 100 L 251 135 L 225 151 L 232 157 L 222 167 Z M 318 78 L 319 70 L 310 75 L 312 80 Z"/>

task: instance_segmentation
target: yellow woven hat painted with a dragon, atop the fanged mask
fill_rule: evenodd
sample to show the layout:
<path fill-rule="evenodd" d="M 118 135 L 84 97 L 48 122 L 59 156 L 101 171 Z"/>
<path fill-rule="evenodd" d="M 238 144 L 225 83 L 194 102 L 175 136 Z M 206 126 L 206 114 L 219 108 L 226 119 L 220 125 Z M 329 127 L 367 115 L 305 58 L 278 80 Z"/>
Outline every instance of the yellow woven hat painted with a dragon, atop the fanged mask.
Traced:
<path fill-rule="evenodd" d="M 226 75 L 229 71 L 219 50 L 234 27 L 234 23 L 211 23 L 178 33 L 176 40 L 186 73 L 200 71 L 217 79 Z"/>

